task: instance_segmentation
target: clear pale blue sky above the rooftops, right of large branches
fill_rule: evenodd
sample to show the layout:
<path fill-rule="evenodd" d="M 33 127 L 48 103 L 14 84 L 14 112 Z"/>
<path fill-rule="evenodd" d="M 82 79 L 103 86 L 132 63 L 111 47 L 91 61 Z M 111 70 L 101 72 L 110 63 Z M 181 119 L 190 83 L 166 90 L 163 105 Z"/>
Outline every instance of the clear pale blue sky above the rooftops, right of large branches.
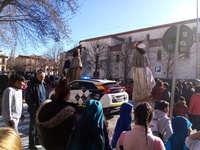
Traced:
<path fill-rule="evenodd" d="M 194 19 L 197 17 L 196 1 L 79 0 L 81 8 L 69 22 L 71 42 L 64 43 L 64 50 L 75 47 L 84 39 Z M 41 46 L 38 50 L 29 50 L 28 54 L 42 55 L 45 50 Z M 17 51 L 25 55 L 23 51 Z"/>

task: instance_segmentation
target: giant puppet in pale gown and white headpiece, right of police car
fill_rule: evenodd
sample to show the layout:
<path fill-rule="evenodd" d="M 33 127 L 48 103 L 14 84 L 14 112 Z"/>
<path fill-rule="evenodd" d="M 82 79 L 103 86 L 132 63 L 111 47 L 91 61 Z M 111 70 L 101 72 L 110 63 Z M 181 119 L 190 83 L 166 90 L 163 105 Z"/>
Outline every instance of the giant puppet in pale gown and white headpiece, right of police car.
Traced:
<path fill-rule="evenodd" d="M 133 100 L 148 101 L 151 100 L 151 91 L 155 85 L 152 72 L 149 68 L 149 61 L 146 55 L 146 45 L 142 42 L 136 42 L 133 62 Z"/>

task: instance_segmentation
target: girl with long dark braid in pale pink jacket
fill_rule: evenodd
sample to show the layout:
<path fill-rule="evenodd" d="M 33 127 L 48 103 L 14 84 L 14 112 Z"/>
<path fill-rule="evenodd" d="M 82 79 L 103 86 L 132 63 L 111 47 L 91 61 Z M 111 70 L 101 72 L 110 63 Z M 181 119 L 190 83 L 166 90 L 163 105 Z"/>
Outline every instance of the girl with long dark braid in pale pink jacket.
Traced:
<path fill-rule="evenodd" d="M 116 150 L 164 150 L 162 140 L 154 136 L 149 128 L 153 118 L 153 108 L 147 102 L 140 103 L 134 109 L 133 129 L 122 132 Z"/>

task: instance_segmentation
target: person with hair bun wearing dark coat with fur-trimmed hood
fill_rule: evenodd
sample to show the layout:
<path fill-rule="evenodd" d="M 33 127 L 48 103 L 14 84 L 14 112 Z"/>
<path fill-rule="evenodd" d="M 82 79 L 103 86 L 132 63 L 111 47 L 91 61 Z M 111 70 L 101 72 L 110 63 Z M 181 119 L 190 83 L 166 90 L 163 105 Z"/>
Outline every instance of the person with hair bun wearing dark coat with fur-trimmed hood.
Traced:
<path fill-rule="evenodd" d="M 36 115 L 38 140 L 47 150 L 65 150 L 77 122 L 75 106 L 69 103 L 70 88 L 66 79 L 55 88 L 55 99 L 46 100 Z"/>

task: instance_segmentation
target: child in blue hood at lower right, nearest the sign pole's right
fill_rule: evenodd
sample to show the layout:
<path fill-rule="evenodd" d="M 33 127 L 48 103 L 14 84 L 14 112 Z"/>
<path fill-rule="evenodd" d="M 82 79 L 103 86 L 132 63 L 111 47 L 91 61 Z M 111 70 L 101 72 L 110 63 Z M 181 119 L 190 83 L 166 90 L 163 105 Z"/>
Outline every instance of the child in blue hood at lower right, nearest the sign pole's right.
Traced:
<path fill-rule="evenodd" d="M 166 143 L 166 150 L 189 150 L 185 139 L 192 131 L 192 123 L 185 117 L 177 116 L 172 119 L 173 134 Z"/>

